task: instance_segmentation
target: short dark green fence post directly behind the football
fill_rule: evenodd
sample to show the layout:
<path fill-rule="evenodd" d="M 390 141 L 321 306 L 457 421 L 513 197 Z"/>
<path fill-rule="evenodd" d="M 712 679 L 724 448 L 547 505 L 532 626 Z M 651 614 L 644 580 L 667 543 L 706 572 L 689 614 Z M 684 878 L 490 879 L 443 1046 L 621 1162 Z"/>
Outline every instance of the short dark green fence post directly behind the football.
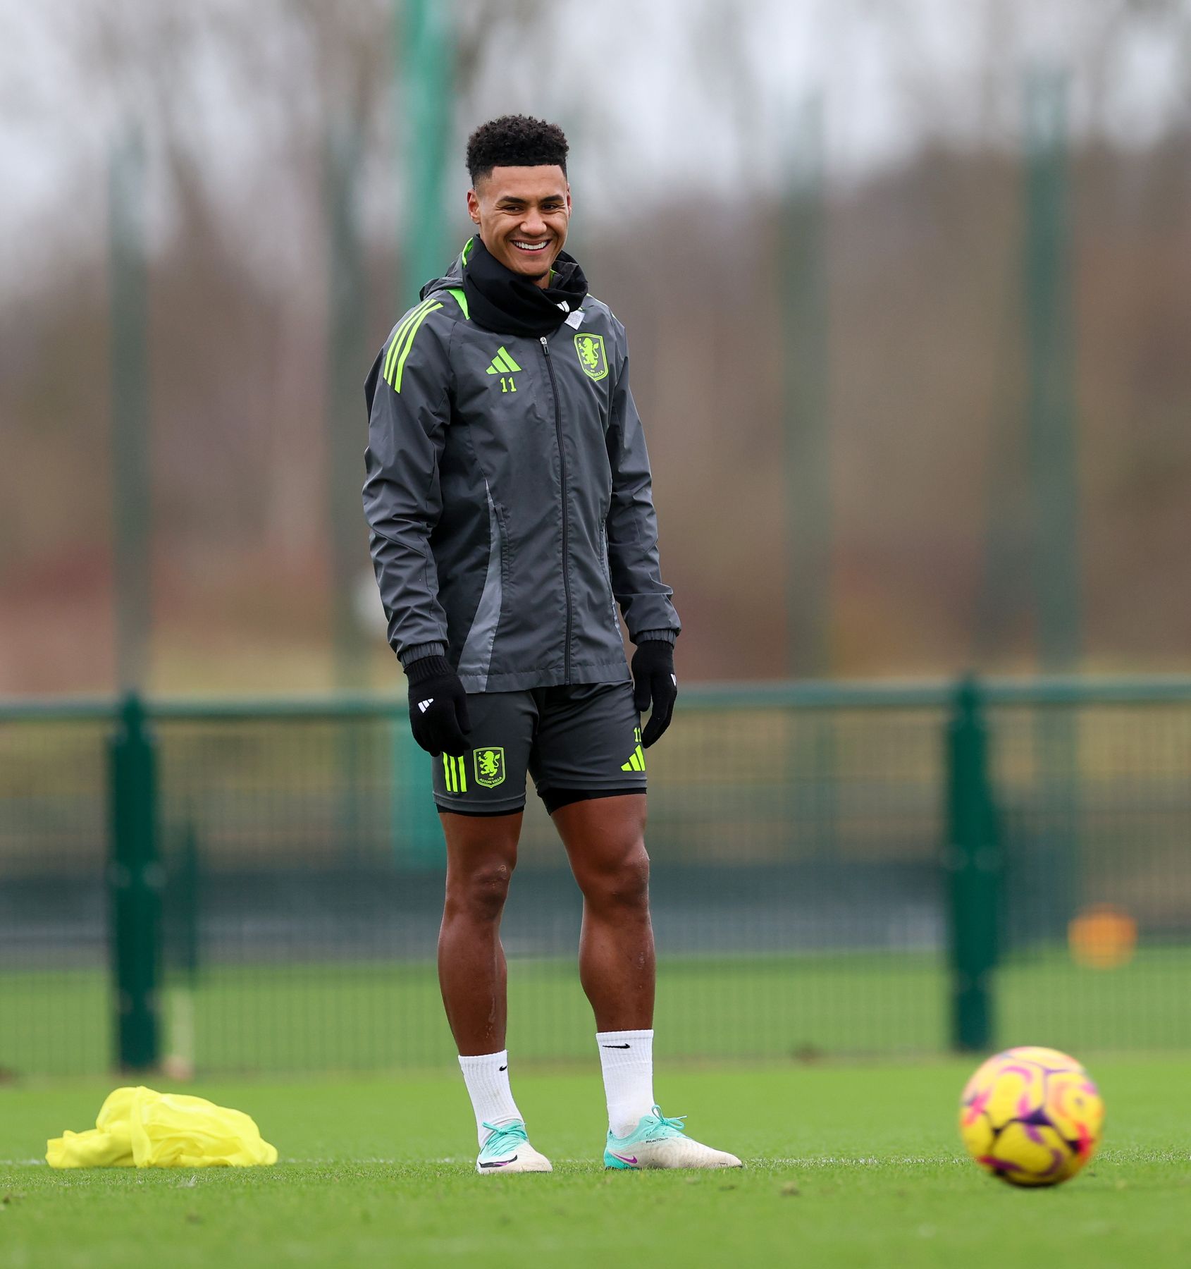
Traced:
<path fill-rule="evenodd" d="M 955 693 L 947 723 L 951 1044 L 983 1051 L 993 1037 L 999 944 L 1001 848 L 988 772 L 988 733 L 975 679 Z"/>

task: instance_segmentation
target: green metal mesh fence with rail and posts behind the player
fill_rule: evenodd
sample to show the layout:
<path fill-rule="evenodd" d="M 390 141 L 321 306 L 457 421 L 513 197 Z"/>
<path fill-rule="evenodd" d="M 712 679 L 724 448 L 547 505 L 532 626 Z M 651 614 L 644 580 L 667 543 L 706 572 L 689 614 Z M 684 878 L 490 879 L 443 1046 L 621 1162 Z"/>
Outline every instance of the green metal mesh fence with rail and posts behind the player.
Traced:
<path fill-rule="evenodd" d="M 0 707 L 0 1067 L 426 1066 L 453 1046 L 403 702 Z M 1191 679 L 687 689 L 649 753 L 658 1049 L 1191 1046 Z M 510 1046 L 589 1056 L 530 797 Z"/>

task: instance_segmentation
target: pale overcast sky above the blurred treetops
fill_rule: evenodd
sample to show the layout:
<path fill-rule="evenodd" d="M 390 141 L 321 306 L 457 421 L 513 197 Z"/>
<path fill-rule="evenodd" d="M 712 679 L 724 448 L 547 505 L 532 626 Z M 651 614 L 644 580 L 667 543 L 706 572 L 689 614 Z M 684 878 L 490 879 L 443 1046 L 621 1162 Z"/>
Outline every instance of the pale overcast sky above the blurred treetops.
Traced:
<path fill-rule="evenodd" d="M 460 25 L 474 29 L 479 0 L 455 4 Z M 39 241 L 48 250 L 55 236 L 38 232 L 48 223 L 58 240 L 94 233 L 96 225 L 101 232 L 96 181 L 114 121 L 136 96 L 131 81 L 160 74 L 142 65 L 126 72 L 128 82 L 105 82 L 96 70 L 101 49 L 93 62 L 79 44 L 86 19 L 115 15 L 117 39 L 126 32 L 136 49 L 140 19 L 165 10 L 178 15 L 169 74 L 211 185 L 235 208 L 268 160 L 285 121 L 270 123 L 260 94 L 246 110 L 226 46 L 204 34 L 242 15 L 242 0 L 0 0 L 8 266 L 37 259 Z M 315 53 L 293 34 L 301 11 L 296 0 L 259 0 L 251 9 L 265 90 L 270 67 L 290 82 L 307 74 L 303 58 Z M 337 0 L 330 11 L 335 20 L 375 23 L 386 5 Z M 526 11 L 538 14 L 531 34 L 512 20 Z M 622 214 L 622 193 L 770 184 L 790 121 L 813 94 L 824 102 L 833 179 L 897 162 L 931 137 L 1011 145 L 1021 74 L 1031 63 L 1071 67 L 1076 128 L 1095 127 L 1120 143 L 1144 145 L 1191 110 L 1191 0 L 550 0 L 537 10 L 510 0 L 483 13 L 478 71 L 457 104 L 457 146 L 481 118 L 506 109 L 557 118 L 576 143 L 575 184 L 595 194 L 587 202 L 597 216 Z M 387 30 L 377 25 L 384 43 Z M 153 121 L 146 124 L 152 132 Z M 465 188 L 459 164 L 450 179 L 454 199 Z M 80 189 L 91 194 L 76 201 Z M 374 214 L 386 214 L 386 199 L 374 202 Z"/>

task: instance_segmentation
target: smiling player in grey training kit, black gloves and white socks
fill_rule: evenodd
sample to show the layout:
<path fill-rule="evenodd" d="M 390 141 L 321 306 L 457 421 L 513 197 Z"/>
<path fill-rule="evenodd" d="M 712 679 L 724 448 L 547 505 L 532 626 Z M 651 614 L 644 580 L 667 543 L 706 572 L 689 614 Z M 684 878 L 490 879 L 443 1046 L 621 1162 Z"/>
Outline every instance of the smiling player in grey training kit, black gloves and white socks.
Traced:
<path fill-rule="evenodd" d="M 653 1101 L 646 759 L 677 695 L 624 327 L 563 251 L 567 140 L 505 115 L 468 141 L 477 226 L 368 377 L 364 509 L 434 755 L 446 838 L 439 981 L 477 1169 L 549 1171 L 512 1099 L 500 919 L 526 772 L 583 895 L 580 980 L 608 1095 L 608 1167 L 738 1167 Z M 632 675 L 616 604 L 637 646 Z M 649 721 L 641 727 L 641 713 Z"/>

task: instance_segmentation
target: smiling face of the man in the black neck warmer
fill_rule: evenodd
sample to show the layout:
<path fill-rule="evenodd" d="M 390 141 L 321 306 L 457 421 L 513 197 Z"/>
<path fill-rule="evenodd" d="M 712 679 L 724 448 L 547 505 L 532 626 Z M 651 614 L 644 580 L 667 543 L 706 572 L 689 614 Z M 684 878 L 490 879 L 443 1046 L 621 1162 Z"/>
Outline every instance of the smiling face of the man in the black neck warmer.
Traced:
<path fill-rule="evenodd" d="M 483 245 L 506 269 L 547 284 L 571 220 L 562 168 L 493 168 L 467 192 L 467 209 Z"/>

